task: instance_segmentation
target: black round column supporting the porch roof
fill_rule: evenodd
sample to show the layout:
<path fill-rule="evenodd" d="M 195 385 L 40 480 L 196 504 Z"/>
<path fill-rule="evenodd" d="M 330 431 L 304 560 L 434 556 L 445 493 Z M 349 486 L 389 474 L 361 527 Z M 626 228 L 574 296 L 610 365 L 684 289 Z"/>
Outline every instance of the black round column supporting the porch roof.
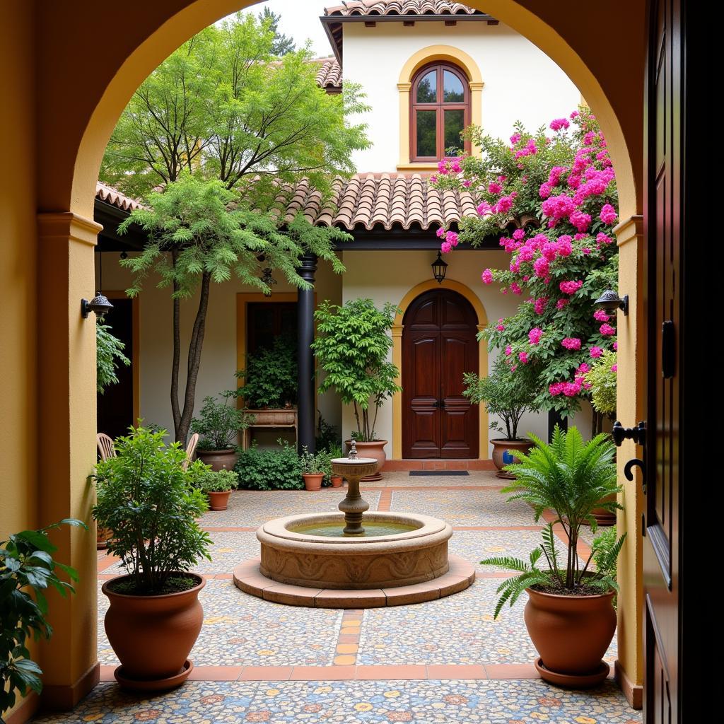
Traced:
<path fill-rule="evenodd" d="M 300 259 L 299 276 L 314 284 L 317 258 L 306 254 Z M 314 290 L 297 292 L 297 447 L 306 445 L 309 452 L 316 452 L 314 445 L 314 357 L 311 343 L 314 341 Z"/>

